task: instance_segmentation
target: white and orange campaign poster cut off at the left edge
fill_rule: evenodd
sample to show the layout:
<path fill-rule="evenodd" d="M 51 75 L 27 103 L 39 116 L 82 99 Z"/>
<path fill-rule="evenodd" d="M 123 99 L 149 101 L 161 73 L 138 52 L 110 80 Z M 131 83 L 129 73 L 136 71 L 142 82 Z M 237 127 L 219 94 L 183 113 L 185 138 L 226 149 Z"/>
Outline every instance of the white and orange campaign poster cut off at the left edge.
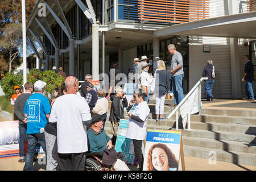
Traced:
<path fill-rule="evenodd" d="M 0 159 L 19 156 L 19 121 L 0 122 Z"/>

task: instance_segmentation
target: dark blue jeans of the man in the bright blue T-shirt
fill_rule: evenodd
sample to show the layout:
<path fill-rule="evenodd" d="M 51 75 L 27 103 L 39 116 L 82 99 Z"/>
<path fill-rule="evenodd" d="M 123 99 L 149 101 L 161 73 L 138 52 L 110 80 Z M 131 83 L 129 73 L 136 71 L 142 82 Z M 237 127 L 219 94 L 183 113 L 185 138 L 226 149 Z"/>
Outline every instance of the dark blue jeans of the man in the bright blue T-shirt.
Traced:
<path fill-rule="evenodd" d="M 44 133 L 27 134 L 27 154 L 23 171 L 33 171 L 33 159 L 36 143 L 38 143 L 38 141 L 43 147 L 43 150 L 46 151 L 46 140 L 44 139 Z"/>

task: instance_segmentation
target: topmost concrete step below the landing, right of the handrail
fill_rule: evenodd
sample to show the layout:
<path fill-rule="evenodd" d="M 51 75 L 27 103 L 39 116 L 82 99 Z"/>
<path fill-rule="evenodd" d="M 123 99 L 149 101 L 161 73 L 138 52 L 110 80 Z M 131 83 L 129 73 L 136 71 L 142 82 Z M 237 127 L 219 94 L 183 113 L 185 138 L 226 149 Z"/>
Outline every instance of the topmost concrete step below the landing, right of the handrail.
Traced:
<path fill-rule="evenodd" d="M 201 114 L 238 116 L 238 117 L 256 117 L 255 110 L 232 110 L 232 109 L 201 109 Z"/>

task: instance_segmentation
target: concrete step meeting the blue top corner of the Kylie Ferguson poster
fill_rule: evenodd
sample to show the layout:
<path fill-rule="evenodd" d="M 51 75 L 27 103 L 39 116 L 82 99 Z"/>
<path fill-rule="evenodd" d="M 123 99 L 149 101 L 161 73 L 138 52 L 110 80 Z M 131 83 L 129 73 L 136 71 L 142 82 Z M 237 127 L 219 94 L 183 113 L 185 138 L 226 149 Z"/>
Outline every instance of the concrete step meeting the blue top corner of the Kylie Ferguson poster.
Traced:
<path fill-rule="evenodd" d="M 182 137 L 184 145 L 194 147 L 205 147 L 224 151 L 237 151 L 249 154 L 256 154 L 256 144 L 245 142 L 234 142 L 229 140 L 214 140 L 207 138 Z"/>

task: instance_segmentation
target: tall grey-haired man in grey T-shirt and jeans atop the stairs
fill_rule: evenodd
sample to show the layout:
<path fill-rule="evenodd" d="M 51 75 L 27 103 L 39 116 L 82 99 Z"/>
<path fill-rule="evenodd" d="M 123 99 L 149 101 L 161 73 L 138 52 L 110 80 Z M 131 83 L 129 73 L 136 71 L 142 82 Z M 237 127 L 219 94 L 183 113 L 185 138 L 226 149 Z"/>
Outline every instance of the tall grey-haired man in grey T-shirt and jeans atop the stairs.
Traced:
<path fill-rule="evenodd" d="M 172 55 L 171 60 L 171 75 L 172 75 L 172 92 L 174 92 L 174 105 L 178 105 L 183 100 L 182 80 L 183 59 L 181 53 L 176 51 L 174 44 L 168 45 L 168 52 Z"/>

